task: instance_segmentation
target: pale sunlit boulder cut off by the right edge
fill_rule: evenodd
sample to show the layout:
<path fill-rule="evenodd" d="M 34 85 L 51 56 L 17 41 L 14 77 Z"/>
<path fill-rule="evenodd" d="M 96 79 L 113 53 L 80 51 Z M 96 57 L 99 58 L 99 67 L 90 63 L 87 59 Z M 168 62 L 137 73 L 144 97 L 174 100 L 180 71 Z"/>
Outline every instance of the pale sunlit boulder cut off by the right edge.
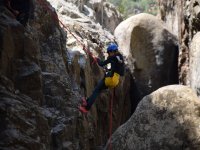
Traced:
<path fill-rule="evenodd" d="M 192 87 L 192 89 L 194 89 L 197 92 L 197 95 L 200 95 L 200 69 L 199 69 L 199 63 L 200 63 L 200 32 L 198 32 L 192 42 L 191 42 L 191 46 L 190 46 L 190 70 L 189 70 L 189 81 L 190 81 L 190 85 Z"/>

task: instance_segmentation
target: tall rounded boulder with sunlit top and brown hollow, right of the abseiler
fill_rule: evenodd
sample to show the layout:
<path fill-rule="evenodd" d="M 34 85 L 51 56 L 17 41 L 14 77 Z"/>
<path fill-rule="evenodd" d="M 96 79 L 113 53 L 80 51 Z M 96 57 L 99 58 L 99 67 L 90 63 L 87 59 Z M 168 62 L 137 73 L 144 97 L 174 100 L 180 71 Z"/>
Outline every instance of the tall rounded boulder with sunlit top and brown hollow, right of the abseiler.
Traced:
<path fill-rule="evenodd" d="M 144 13 L 135 15 L 119 24 L 115 37 L 131 64 L 133 90 L 138 89 L 139 99 L 164 85 L 178 83 L 177 39 L 161 20 Z"/>

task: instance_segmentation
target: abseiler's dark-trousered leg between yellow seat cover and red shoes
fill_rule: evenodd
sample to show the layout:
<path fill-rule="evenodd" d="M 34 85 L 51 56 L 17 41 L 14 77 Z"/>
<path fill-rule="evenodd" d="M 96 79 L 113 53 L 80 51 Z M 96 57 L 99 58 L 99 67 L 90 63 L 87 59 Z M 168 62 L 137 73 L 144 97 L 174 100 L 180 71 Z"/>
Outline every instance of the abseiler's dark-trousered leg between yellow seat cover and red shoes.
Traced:
<path fill-rule="evenodd" d="M 104 79 L 99 81 L 96 88 L 92 92 L 92 95 L 87 99 L 87 106 L 86 106 L 87 110 L 89 110 L 91 108 L 92 104 L 95 102 L 95 99 L 97 98 L 97 96 L 99 95 L 101 90 L 103 90 L 103 89 L 107 89 Z"/>

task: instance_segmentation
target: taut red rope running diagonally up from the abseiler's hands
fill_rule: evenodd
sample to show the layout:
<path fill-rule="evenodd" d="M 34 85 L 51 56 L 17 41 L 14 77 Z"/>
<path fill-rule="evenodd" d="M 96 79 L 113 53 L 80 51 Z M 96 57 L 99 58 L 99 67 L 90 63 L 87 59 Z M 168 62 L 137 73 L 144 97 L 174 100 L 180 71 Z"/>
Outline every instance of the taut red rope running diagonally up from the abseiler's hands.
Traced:
<path fill-rule="evenodd" d="M 81 40 L 79 40 L 75 34 L 72 33 L 72 31 L 69 29 L 68 26 L 66 26 L 57 16 L 57 14 L 51 10 L 51 8 L 49 8 L 47 2 L 45 0 L 38 0 L 38 3 L 44 8 L 44 10 L 46 10 L 47 12 L 49 12 L 49 14 L 51 15 L 51 17 L 55 20 L 58 21 L 64 29 L 66 29 L 75 39 L 76 41 L 83 46 L 83 50 L 85 51 L 86 54 L 88 54 L 90 57 L 92 57 L 93 59 L 93 63 L 97 63 L 97 59 L 96 57 L 93 56 L 93 54 L 85 47 L 85 44 L 83 42 L 81 42 Z"/>

